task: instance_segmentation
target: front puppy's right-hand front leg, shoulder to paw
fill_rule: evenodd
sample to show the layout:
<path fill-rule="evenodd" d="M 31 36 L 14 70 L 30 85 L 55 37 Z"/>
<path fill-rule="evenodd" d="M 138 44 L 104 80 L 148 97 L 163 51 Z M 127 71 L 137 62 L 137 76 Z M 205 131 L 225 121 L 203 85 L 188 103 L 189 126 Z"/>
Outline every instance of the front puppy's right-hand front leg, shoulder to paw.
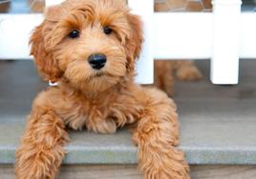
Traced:
<path fill-rule="evenodd" d="M 144 111 L 134 131 L 139 168 L 145 179 L 188 179 L 188 166 L 178 145 L 179 126 L 174 102 L 158 89 L 142 89 Z"/>

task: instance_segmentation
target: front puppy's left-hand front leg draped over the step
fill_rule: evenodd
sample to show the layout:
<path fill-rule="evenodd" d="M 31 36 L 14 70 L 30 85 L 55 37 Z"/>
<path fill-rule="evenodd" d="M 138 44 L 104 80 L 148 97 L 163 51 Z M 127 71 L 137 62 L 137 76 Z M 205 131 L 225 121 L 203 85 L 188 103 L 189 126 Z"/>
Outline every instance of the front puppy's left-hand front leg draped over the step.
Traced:
<path fill-rule="evenodd" d="M 16 151 L 18 179 L 53 179 L 68 140 L 62 120 L 52 110 L 32 111 L 21 146 Z"/>

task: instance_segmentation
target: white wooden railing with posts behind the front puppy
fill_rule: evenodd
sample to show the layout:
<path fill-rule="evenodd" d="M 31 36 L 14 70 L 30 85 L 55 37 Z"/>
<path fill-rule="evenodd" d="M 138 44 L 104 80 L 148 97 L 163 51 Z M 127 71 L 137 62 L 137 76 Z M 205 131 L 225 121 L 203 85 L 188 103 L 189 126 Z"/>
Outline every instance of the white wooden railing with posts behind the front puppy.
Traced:
<path fill-rule="evenodd" d="M 53 2 L 59 3 L 46 0 L 47 6 Z M 153 0 L 128 2 L 144 22 L 139 83 L 152 83 L 156 58 L 211 59 L 214 84 L 237 84 L 239 58 L 256 57 L 256 13 L 241 12 L 241 0 L 213 0 L 213 12 L 154 13 Z M 42 18 L 40 14 L 1 14 L 0 58 L 28 59 L 30 32 Z"/>

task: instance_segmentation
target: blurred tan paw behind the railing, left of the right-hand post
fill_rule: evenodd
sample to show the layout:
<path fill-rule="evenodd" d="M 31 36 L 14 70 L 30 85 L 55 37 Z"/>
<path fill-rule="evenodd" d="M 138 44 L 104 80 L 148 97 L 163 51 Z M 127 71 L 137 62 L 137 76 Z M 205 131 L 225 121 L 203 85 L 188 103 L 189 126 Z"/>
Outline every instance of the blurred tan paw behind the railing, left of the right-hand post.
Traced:
<path fill-rule="evenodd" d="M 182 81 L 198 81 L 203 78 L 202 72 L 195 66 L 181 67 L 176 71 L 176 76 Z"/>

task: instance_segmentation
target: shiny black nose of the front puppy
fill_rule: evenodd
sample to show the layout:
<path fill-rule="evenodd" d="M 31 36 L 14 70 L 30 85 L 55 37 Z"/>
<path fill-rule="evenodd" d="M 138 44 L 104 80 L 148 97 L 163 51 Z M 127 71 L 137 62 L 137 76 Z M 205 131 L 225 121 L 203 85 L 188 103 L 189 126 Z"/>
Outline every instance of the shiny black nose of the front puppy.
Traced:
<path fill-rule="evenodd" d="M 88 57 L 88 62 L 92 66 L 92 68 L 100 70 L 105 66 L 107 62 L 107 57 L 104 54 L 92 54 Z"/>

